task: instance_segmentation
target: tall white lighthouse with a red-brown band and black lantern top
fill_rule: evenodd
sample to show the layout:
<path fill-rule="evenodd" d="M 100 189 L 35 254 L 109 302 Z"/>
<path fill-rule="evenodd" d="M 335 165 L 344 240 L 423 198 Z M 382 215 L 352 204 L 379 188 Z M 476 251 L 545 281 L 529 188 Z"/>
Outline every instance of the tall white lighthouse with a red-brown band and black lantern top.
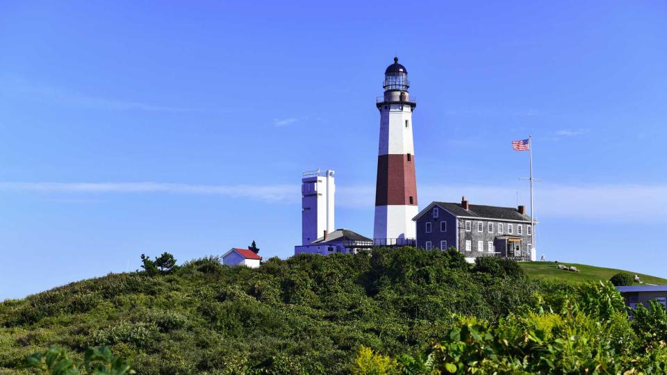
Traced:
<path fill-rule="evenodd" d="M 394 58 L 384 72 L 380 111 L 380 142 L 375 186 L 374 242 L 377 245 L 414 244 L 417 210 L 412 112 L 417 106 L 408 89 L 408 71 Z"/>

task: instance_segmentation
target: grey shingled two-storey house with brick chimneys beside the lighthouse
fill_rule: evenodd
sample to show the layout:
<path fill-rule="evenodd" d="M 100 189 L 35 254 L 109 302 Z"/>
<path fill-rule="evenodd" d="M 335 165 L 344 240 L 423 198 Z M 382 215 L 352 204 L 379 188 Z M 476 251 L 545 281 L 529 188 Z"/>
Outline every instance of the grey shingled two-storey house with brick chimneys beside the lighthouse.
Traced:
<path fill-rule="evenodd" d="M 432 202 L 413 221 L 422 249 L 455 247 L 470 263 L 479 256 L 535 260 L 533 228 L 524 206 L 481 206 L 463 197 L 461 203 Z"/>

